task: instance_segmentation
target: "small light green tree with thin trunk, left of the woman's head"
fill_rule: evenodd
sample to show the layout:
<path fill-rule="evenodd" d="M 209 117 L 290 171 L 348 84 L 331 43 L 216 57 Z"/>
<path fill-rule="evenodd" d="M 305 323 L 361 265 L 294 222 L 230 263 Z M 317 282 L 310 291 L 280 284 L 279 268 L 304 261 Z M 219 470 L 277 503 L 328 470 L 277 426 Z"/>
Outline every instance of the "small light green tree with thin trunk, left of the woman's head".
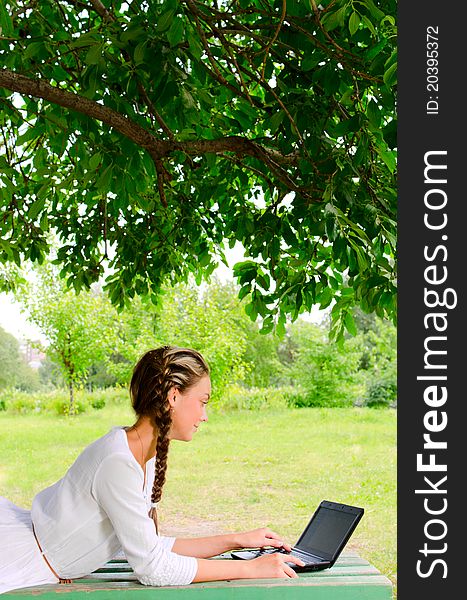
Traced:
<path fill-rule="evenodd" d="M 30 319 L 48 341 L 47 356 L 60 366 L 75 413 L 74 389 L 114 346 L 116 312 L 99 290 L 76 294 L 51 268 L 42 268 L 23 294 Z"/>

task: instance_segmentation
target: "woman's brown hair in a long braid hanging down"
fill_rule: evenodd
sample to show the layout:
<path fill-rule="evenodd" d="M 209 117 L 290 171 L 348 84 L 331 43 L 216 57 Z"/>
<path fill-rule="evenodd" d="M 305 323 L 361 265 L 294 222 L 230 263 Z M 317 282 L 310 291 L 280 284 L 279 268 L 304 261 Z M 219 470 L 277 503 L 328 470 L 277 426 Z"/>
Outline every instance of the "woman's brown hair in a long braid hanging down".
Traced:
<path fill-rule="evenodd" d="M 130 382 L 130 397 L 138 417 L 149 417 L 157 435 L 154 484 L 149 516 L 158 532 L 157 503 L 162 496 L 169 452 L 172 416 L 168 394 L 175 387 L 181 393 L 209 375 L 209 367 L 196 350 L 162 346 L 143 354 Z"/>

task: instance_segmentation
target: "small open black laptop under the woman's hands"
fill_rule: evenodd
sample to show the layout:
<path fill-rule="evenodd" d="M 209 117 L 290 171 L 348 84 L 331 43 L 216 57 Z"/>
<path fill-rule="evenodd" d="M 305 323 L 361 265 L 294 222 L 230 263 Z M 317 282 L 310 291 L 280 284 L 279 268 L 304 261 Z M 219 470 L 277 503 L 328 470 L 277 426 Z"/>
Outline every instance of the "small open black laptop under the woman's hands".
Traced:
<path fill-rule="evenodd" d="M 251 560 L 264 554 L 282 552 L 300 558 L 305 566 L 289 564 L 294 571 L 321 571 L 336 562 L 347 541 L 363 516 L 363 508 L 323 500 L 292 551 L 282 548 L 261 548 L 231 552 L 232 558 Z"/>

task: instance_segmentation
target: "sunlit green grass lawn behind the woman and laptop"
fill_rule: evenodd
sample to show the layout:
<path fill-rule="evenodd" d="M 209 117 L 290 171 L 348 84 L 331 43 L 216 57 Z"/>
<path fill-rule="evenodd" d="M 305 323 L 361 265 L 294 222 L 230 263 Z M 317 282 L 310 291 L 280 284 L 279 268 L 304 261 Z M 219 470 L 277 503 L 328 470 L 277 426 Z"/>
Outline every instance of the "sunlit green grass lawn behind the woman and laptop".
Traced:
<path fill-rule="evenodd" d="M 84 446 L 129 409 L 66 418 L 0 413 L 0 495 L 30 507 Z M 396 413 L 368 408 L 210 415 L 193 442 L 174 442 L 162 529 L 185 535 L 269 526 L 295 542 L 321 500 L 365 508 L 347 549 L 396 584 Z"/>

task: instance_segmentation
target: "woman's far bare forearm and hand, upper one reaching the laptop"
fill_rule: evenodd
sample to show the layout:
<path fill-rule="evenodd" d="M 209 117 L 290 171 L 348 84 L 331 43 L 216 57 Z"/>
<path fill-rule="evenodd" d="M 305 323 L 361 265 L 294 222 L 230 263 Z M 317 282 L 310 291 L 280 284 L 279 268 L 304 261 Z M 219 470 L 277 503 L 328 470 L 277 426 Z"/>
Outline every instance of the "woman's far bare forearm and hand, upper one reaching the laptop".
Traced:
<path fill-rule="evenodd" d="M 280 536 L 267 527 L 232 533 L 226 535 L 213 535 L 204 538 L 177 538 L 172 547 L 172 552 L 195 558 L 209 558 L 235 548 L 263 548 L 274 546 L 290 551 L 290 546 Z"/>

